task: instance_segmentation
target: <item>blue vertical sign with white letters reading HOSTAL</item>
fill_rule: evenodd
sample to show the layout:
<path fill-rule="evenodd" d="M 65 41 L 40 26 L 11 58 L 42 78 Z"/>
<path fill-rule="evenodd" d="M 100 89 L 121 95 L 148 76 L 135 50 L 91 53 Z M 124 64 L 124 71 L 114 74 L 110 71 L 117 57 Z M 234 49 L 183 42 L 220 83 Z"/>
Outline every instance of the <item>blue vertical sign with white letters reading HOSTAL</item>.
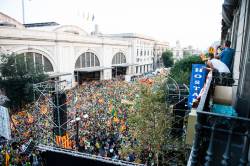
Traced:
<path fill-rule="evenodd" d="M 199 96 L 199 93 L 206 80 L 206 70 L 203 68 L 204 64 L 193 64 L 192 74 L 190 78 L 189 85 L 189 97 L 188 97 L 188 107 L 191 108 L 195 99 Z"/>

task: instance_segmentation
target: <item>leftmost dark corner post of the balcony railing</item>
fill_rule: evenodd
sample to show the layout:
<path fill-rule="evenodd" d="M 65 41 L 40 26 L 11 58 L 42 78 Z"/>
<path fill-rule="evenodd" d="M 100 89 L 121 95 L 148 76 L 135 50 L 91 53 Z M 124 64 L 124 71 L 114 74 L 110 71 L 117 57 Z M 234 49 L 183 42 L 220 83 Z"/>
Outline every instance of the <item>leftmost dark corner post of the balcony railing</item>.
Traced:
<path fill-rule="evenodd" d="M 194 144 L 192 149 L 192 155 L 191 155 L 191 166 L 196 166 L 198 164 L 198 152 L 199 152 L 199 146 L 200 146 L 200 134 L 201 134 L 201 123 L 200 123 L 200 117 L 201 115 L 197 114 L 197 124 L 195 125 L 195 138 L 194 138 Z"/>

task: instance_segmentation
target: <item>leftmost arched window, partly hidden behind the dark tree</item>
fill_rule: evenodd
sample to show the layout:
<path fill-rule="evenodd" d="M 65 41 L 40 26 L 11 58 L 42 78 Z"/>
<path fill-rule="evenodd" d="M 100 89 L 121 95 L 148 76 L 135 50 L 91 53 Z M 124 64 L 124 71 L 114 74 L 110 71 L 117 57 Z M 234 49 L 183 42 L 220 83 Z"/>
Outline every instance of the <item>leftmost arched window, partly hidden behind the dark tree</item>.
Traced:
<path fill-rule="evenodd" d="M 53 72 L 53 66 L 48 58 L 36 52 L 25 52 L 16 56 L 16 64 L 25 64 L 27 71 Z"/>

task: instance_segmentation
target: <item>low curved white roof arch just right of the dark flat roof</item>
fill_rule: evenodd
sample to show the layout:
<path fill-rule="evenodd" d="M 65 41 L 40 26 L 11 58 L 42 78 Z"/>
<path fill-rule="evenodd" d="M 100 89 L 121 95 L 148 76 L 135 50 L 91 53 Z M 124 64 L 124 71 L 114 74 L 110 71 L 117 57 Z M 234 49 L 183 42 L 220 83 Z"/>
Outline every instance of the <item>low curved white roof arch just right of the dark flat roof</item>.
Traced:
<path fill-rule="evenodd" d="M 74 35 L 88 36 L 88 33 L 75 25 L 63 25 L 54 29 L 55 32 L 66 32 Z"/>

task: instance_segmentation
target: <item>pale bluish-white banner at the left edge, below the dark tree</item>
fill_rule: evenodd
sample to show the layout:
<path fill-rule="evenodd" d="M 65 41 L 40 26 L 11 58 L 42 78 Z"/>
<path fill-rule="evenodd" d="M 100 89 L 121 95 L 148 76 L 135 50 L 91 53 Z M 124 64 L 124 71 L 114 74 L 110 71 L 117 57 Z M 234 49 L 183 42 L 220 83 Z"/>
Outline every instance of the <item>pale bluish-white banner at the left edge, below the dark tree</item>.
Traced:
<path fill-rule="evenodd" d="M 0 136 L 8 140 L 11 139 L 9 112 L 3 106 L 0 106 Z"/>

